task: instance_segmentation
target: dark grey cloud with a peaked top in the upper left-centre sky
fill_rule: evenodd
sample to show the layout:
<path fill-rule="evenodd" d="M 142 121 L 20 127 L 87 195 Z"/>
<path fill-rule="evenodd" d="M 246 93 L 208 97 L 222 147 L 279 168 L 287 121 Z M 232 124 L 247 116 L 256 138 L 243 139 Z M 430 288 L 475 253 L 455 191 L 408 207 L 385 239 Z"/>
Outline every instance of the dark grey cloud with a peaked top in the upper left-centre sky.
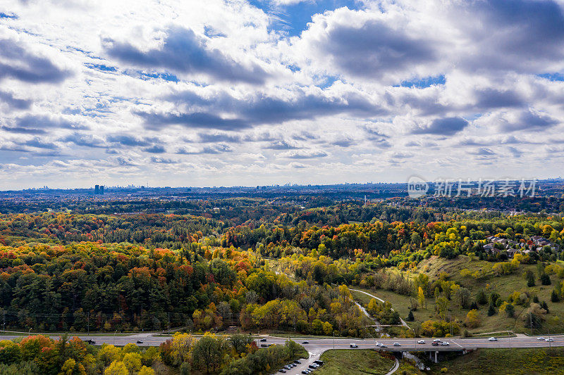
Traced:
<path fill-rule="evenodd" d="M 104 40 L 106 53 L 119 61 L 144 68 L 173 72 L 204 73 L 221 81 L 262 84 L 268 74 L 257 64 L 242 65 L 218 49 L 210 49 L 207 39 L 192 30 L 170 27 L 161 49 L 141 51 L 127 42 Z"/>

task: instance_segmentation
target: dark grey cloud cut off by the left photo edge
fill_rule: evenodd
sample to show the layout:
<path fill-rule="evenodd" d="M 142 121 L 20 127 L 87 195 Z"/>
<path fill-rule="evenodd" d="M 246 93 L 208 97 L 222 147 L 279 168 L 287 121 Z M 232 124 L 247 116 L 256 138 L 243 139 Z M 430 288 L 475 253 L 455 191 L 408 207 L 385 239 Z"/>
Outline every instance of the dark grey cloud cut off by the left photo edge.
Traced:
<path fill-rule="evenodd" d="M 0 57 L 0 80 L 11 77 L 28 83 L 57 83 L 71 75 L 48 58 L 30 53 L 11 39 L 0 39 Z"/>

